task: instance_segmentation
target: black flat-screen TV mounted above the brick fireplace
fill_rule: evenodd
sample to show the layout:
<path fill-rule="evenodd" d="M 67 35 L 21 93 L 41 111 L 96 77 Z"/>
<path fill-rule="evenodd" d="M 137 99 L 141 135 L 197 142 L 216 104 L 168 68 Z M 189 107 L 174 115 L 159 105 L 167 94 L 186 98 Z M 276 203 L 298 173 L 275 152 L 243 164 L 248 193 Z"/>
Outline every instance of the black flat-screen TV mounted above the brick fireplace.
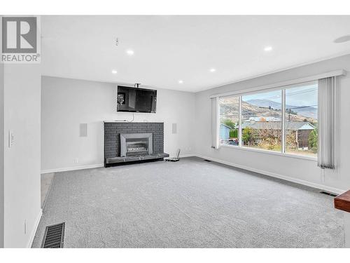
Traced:
<path fill-rule="evenodd" d="M 117 112 L 152 112 L 157 106 L 157 90 L 118 86 Z"/>

